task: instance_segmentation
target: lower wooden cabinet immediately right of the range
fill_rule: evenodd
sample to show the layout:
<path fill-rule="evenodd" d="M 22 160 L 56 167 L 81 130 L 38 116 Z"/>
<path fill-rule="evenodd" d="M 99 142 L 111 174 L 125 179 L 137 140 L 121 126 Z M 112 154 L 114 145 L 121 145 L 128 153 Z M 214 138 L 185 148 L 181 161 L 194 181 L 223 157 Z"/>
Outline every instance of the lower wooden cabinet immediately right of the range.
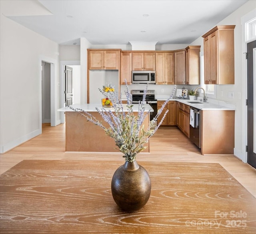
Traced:
<path fill-rule="evenodd" d="M 158 101 L 157 102 L 157 110 L 159 110 L 162 105 L 164 104 L 164 101 Z M 164 121 L 162 122 L 162 126 L 172 126 L 176 125 L 176 101 L 169 101 L 167 105 L 164 107 L 164 110 L 160 114 L 157 123 L 159 123 L 164 116 L 164 113 L 166 110 L 169 110 L 166 117 L 164 118 Z"/>

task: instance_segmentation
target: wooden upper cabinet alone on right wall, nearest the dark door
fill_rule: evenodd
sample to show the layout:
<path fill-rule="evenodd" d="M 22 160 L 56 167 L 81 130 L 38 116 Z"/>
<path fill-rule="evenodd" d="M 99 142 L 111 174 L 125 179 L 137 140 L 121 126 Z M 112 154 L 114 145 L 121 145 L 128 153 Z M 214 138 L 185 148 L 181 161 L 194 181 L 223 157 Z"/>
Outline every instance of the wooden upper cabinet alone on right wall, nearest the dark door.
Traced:
<path fill-rule="evenodd" d="M 202 36 L 205 84 L 234 84 L 234 28 L 216 26 Z"/>

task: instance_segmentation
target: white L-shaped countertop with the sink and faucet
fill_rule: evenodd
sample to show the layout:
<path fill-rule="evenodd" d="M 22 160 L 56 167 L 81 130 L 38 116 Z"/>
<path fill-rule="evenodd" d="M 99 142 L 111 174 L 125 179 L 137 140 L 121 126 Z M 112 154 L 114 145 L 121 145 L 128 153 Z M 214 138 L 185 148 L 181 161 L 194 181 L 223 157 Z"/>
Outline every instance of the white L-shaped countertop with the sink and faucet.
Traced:
<path fill-rule="evenodd" d="M 165 101 L 168 98 L 168 96 L 156 96 L 156 99 L 158 101 Z M 236 107 L 232 104 L 227 104 L 225 102 L 222 101 L 218 101 L 218 100 L 214 100 L 215 103 L 210 103 L 210 102 L 200 102 L 198 100 L 189 100 L 189 98 L 187 99 L 183 99 L 183 98 L 175 98 L 175 99 L 171 99 L 170 101 L 177 101 L 177 102 L 181 102 L 184 103 L 188 106 L 192 106 L 194 108 L 197 108 L 199 110 L 236 110 Z M 200 102 L 200 104 L 198 103 L 190 103 L 190 102 Z"/>

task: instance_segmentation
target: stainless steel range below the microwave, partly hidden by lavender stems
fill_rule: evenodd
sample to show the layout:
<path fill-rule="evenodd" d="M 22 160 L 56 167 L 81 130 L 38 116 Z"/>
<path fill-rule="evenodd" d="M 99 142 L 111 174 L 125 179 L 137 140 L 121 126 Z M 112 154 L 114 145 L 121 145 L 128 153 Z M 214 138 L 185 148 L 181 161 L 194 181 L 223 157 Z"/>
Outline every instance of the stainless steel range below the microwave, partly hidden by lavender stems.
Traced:
<path fill-rule="evenodd" d="M 143 99 L 144 90 L 132 90 L 132 103 L 136 104 Z M 157 114 L 157 100 L 155 98 L 155 90 L 147 90 L 146 103 L 150 104 L 154 112 L 150 112 L 150 120 Z"/>

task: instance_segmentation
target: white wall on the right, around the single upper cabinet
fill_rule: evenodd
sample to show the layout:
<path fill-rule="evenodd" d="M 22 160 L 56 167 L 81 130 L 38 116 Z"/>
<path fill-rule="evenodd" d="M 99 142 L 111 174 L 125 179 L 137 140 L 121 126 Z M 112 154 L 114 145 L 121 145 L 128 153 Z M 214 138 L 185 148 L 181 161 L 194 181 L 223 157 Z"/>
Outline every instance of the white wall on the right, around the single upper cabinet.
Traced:
<path fill-rule="evenodd" d="M 243 6 L 238 8 L 235 12 L 230 14 L 224 20 L 219 22 L 217 25 L 236 25 L 234 29 L 234 48 L 235 48 L 235 84 L 228 85 L 216 85 L 217 96 L 216 99 L 223 100 L 225 102 L 230 102 L 236 105 L 235 112 L 235 148 L 234 154 L 246 162 L 246 152 L 245 152 L 245 137 L 242 134 L 242 126 L 245 126 L 244 120 L 244 108 L 246 100 L 246 92 L 244 84 L 246 80 L 246 74 L 242 73 L 242 64 L 245 60 L 244 52 L 242 51 L 242 38 L 245 36 L 242 34 L 241 18 L 248 12 L 256 8 L 256 1 L 250 0 L 246 2 Z M 210 30 L 210 28 L 209 28 Z M 201 45 L 201 53 L 204 52 L 203 38 L 200 37 L 196 39 L 191 45 Z M 222 96 L 223 91 L 223 96 Z M 234 92 L 234 98 L 228 98 L 228 92 Z M 240 98 L 241 96 L 241 98 Z"/>

